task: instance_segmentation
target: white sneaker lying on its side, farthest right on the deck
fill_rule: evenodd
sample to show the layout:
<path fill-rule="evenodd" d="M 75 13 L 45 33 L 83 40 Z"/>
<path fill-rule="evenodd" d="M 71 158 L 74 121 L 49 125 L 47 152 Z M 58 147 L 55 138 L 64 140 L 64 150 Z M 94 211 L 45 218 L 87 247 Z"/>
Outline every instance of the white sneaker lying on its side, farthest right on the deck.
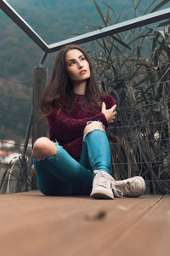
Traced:
<path fill-rule="evenodd" d="M 114 185 L 116 187 L 116 193 L 118 194 L 118 197 L 122 197 L 123 195 L 137 197 L 143 195 L 145 190 L 144 178 L 140 176 L 129 177 L 123 180 L 116 180 Z"/>

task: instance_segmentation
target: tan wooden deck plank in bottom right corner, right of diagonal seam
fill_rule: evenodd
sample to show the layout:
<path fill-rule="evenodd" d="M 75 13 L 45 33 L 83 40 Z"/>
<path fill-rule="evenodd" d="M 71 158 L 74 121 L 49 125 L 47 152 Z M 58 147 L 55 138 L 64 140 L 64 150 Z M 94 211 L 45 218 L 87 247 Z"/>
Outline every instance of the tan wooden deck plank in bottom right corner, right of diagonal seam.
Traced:
<path fill-rule="evenodd" d="M 111 249 L 111 248 L 110 248 Z M 115 248 L 119 255 L 170 255 L 170 195 L 165 195 L 133 225 Z"/>

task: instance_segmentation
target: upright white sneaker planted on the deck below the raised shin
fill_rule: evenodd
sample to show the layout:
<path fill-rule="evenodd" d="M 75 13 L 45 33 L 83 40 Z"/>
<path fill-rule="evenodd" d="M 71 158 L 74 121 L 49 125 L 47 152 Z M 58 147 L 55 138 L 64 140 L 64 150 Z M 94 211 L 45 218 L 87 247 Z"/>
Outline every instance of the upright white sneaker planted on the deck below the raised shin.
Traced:
<path fill-rule="evenodd" d="M 90 196 L 94 198 L 113 199 L 112 184 L 114 178 L 104 171 L 94 170 L 94 173 L 96 175 L 94 176 L 93 189 Z"/>

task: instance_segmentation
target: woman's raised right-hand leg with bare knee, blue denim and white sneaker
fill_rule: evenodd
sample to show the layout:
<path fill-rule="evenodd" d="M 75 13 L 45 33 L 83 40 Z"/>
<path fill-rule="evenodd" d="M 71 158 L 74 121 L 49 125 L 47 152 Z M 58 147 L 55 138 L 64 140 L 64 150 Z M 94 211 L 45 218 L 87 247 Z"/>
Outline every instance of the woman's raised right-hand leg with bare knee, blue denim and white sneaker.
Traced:
<path fill-rule="evenodd" d="M 103 124 L 90 122 L 84 130 L 83 143 L 88 149 L 88 161 L 95 177 L 91 196 L 113 199 L 114 179 L 111 177 L 111 149 Z M 82 164 L 83 164 L 83 159 Z"/>

